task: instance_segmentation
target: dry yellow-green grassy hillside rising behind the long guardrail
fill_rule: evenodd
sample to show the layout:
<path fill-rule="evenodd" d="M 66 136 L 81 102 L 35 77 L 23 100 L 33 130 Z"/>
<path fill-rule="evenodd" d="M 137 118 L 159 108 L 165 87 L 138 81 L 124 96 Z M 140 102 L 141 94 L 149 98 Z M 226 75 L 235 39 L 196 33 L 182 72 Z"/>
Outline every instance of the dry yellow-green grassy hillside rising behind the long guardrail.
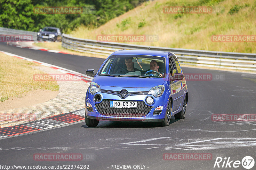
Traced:
<path fill-rule="evenodd" d="M 165 6 L 211 6 L 212 13 L 164 13 Z M 100 34 L 157 35 L 148 46 L 256 53 L 255 42 L 212 42 L 212 35 L 256 35 L 256 0 L 155 0 L 99 28 L 78 27 L 71 35 L 96 39 Z"/>

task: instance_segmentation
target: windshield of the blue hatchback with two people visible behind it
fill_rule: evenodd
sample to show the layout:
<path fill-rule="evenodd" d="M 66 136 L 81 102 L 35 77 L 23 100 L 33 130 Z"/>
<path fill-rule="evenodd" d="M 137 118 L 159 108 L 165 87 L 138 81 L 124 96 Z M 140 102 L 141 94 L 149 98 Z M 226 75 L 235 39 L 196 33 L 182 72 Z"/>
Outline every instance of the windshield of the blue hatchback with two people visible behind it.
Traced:
<path fill-rule="evenodd" d="M 100 70 L 101 76 L 163 78 L 165 58 L 143 55 L 111 56 Z M 161 75 L 162 74 L 162 75 Z"/>

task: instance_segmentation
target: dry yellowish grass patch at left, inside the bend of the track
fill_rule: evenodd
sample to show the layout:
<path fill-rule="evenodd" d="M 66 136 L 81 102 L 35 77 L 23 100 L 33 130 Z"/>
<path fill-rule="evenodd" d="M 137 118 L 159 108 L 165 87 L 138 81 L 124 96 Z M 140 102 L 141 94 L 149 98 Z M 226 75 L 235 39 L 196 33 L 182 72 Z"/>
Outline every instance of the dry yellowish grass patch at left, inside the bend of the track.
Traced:
<path fill-rule="evenodd" d="M 59 91 L 56 81 L 34 81 L 33 75 L 43 72 L 31 66 L 40 65 L 0 53 L 0 102 L 10 97 L 22 97 L 32 89 Z"/>

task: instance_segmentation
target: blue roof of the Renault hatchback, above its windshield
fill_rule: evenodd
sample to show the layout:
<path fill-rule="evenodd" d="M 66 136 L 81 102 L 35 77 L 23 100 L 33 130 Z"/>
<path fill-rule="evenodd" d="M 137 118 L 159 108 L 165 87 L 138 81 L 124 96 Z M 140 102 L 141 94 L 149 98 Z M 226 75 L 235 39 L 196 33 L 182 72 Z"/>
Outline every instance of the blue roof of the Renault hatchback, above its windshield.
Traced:
<path fill-rule="evenodd" d="M 151 55 L 151 56 L 160 56 L 166 57 L 170 54 L 165 51 L 153 51 L 153 50 L 119 50 L 111 55 Z"/>

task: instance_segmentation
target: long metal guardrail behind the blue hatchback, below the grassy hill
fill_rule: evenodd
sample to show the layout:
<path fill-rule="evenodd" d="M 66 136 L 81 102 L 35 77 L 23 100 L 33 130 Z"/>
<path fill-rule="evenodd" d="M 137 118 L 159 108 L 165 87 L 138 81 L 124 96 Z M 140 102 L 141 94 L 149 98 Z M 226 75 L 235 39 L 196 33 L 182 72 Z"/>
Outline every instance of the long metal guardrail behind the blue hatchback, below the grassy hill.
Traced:
<path fill-rule="evenodd" d="M 124 43 L 99 42 L 74 38 L 62 34 L 62 47 L 84 53 L 109 56 L 117 50 L 156 50 L 173 52 L 180 64 L 256 71 L 256 53 L 230 53 L 220 51 L 191 50 L 156 46 L 141 46 Z"/>

